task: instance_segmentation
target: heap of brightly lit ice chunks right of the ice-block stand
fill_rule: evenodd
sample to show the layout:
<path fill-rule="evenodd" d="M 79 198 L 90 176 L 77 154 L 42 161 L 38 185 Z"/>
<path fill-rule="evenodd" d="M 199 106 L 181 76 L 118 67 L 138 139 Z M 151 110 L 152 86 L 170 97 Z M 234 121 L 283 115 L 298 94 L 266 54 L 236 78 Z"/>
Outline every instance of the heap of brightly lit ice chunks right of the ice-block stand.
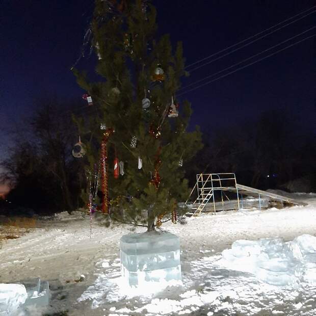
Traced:
<path fill-rule="evenodd" d="M 254 274 L 273 285 L 316 283 L 316 237 L 305 234 L 287 243 L 281 239 L 238 240 L 222 252 L 218 265 Z"/>

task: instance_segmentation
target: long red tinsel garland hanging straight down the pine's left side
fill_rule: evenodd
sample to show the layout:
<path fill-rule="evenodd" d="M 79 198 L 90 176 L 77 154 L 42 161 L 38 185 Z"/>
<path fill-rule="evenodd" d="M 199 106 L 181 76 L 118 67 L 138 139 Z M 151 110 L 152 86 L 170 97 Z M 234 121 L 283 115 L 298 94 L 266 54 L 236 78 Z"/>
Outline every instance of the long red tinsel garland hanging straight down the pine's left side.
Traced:
<path fill-rule="evenodd" d="M 107 143 L 114 133 L 113 128 L 107 128 L 103 133 L 101 142 L 101 191 L 102 191 L 102 213 L 110 214 L 110 201 L 109 201 L 109 188 L 108 188 L 108 156 L 107 156 Z"/>

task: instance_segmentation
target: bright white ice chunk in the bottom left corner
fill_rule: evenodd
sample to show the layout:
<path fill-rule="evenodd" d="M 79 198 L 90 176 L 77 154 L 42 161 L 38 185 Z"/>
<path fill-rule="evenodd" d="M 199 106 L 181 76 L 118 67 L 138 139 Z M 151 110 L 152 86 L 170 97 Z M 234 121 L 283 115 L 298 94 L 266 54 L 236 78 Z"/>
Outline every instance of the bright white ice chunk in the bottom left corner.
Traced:
<path fill-rule="evenodd" d="M 0 283 L 0 315 L 14 315 L 27 298 L 27 289 L 23 284 Z"/>

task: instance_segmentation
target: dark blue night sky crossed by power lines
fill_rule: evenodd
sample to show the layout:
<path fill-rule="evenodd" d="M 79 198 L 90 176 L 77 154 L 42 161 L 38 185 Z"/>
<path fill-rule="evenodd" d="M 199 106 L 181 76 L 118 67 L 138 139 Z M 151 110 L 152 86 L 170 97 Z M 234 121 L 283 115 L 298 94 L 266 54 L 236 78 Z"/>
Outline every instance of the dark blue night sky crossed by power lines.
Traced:
<path fill-rule="evenodd" d="M 174 43 L 183 41 L 187 64 L 316 5 L 314 0 L 155 0 L 153 4 L 157 7 L 159 34 L 169 33 Z M 77 86 L 70 68 L 80 56 L 92 10 L 93 1 L 88 0 L 2 1 L 0 161 L 9 142 L 6 130 L 15 122 L 23 125 L 25 116 L 34 111 L 38 97 L 55 94 L 60 98 L 77 98 L 78 107 L 85 105 L 81 98 L 84 91 Z M 315 27 L 315 21 L 316 13 L 310 14 L 201 67 L 183 81 L 183 86 Z M 272 51 L 315 33 L 313 29 Z M 268 54 L 271 51 L 256 59 Z M 246 124 L 269 109 L 287 111 L 298 119 L 302 129 L 312 130 L 315 129 L 315 56 L 313 37 L 181 97 L 192 102 L 192 123 L 200 125 L 202 130 Z M 85 57 L 77 66 L 89 67 L 94 61 L 94 57 Z"/>

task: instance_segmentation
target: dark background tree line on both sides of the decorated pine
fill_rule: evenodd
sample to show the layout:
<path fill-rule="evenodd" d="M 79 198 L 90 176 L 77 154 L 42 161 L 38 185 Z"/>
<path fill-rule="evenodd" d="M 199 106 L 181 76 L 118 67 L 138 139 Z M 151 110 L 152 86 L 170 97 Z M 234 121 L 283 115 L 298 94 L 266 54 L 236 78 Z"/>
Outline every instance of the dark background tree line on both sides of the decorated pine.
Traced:
<path fill-rule="evenodd" d="M 73 115 L 89 118 L 92 107 L 79 110 L 76 101 L 38 100 L 38 109 L 23 130 L 13 132 L 9 155 L 1 163 L 1 180 L 11 183 L 6 199 L 37 214 L 84 207 L 87 178 L 84 159 L 72 156 L 78 141 Z M 203 130 L 204 147 L 183 168 L 190 186 L 196 174 L 235 172 L 239 183 L 258 189 L 282 189 L 303 179 L 316 190 L 316 142 L 288 113 L 268 111 L 251 122 L 213 133 Z M 306 187 L 306 186 L 305 186 Z"/>

